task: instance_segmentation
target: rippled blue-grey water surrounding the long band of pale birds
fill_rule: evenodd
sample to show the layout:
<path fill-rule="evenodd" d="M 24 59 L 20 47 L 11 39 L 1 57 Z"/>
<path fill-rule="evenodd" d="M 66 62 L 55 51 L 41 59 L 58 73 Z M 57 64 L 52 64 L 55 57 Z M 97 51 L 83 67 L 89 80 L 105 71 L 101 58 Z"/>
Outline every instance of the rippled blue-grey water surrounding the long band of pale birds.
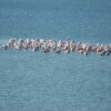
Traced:
<path fill-rule="evenodd" d="M 111 43 L 111 0 L 0 0 L 10 38 Z M 111 56 L 0 50 L 0 111 L 111 111 Z"/>

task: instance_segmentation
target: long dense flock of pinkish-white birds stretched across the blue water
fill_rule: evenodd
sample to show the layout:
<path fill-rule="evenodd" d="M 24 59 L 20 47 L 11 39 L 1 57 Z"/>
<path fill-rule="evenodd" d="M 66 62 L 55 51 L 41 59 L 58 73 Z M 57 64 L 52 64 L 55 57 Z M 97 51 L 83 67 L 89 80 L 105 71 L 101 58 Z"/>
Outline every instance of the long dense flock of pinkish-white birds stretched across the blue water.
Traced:
<path fill-rule="evenodd" d="M 56 40 L 44 40 L 44 39 L 10 39 L 7 44 L 0 46 L 0 50 L 8 50 L 9 48 L 14 48 L 17 50 L 27 49 L 32 51 L 41 50 L 46 53 L 54 51 L 56 53 L 60 52 L 79 52 L 84 56 L 88 56 L 90 52 L 98 53 L 100 56 L 110 56 L 111 53 L 111 43 L 103 46 L 101 43 L 89 44 L 89 43 L 75 43 L 74 41 L 56 41 Z"/>

